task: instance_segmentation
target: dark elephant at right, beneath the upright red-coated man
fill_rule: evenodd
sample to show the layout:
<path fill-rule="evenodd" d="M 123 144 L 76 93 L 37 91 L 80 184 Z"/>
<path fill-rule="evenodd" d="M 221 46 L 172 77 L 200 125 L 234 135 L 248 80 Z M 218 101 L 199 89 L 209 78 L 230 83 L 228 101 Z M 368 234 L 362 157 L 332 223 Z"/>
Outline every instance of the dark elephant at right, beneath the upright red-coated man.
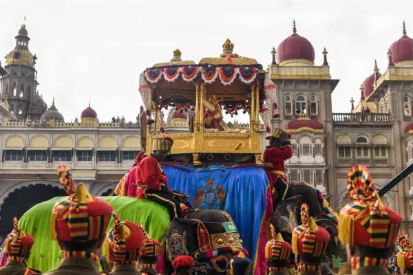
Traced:
<path fill-rule="evenodd" d="M 293 228 L 301 225 L 301 204 L 307 203 L 310 216 L 315 218 L 317 225 L 330 233 L 326 256 L 331 267 L 338 267 L 339 263 L 346 261 L 346 250 L 338 239 L 337 217 L 320 194 L 321 192 L 308 184 L 290 184 L 288 197 L 277 203 L 270 222 L 277 232 L 282 233 L 284 240 L 291 241 Z"/>

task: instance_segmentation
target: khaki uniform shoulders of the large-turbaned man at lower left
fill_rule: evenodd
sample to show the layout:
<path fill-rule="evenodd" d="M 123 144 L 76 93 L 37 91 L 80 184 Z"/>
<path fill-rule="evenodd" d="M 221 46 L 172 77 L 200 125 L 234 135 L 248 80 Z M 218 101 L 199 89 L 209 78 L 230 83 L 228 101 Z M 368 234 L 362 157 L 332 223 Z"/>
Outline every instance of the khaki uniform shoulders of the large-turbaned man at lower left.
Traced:
<path fill-rule="evenodd" d="M 43 275 L 100 275 L 98 265 L 87 258 L 74 258 L 68 257 L 61 261 L 59 267 L 56 270 L 46 272 Z"/>

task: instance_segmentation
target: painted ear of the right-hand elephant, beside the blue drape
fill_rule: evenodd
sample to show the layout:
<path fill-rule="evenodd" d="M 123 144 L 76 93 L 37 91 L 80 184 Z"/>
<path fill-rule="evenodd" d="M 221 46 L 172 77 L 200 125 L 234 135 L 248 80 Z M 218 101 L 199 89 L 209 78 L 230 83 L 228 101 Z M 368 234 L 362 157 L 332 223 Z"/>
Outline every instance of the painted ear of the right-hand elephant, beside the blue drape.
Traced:
<path fill-rule="evenodd" d="M 293 232 L 293 228 L 298 224 L 297 210 L 299 210 L 302 201 L 302 196 L 297 195 L 284 199 L 277 204 L 273 217 L 270 219 L 277 232 Z"/>

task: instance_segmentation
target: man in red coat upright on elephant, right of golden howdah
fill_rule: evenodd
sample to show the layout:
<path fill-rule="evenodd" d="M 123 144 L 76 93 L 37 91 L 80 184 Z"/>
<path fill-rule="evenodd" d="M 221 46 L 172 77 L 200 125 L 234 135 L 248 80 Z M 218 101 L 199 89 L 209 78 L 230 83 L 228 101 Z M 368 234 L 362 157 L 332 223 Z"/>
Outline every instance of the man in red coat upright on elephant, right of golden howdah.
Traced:
<path fill-rule="evenodd" d="M 271 184 L 277 191 L 274 205 L 282 201 L 288 195 L 288 184 L 284 175 L 284 162 L 293 156 L 293 148 L 290 143 L 291 135 L 275 129 L 270 140 L 270 145 L 264 151 L 264 163 L 270 163 L 273 167 L 266 168 L 271 175 Z"/>

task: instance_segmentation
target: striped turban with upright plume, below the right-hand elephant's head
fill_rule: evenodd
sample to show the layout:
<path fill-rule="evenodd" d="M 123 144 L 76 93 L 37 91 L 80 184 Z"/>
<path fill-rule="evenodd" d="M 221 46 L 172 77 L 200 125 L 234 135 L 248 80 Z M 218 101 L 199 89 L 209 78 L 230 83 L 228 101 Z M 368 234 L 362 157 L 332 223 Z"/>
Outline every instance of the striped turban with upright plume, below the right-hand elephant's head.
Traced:
<path fill-rule="evenodd" d="M 330 234 L 317 226 L 313 217 L 310 217 L 306 203 L 301 205 L 301 222 L 302 224 L 293 230 L 293 253 L 321 256 L 326 252 Z"/>

